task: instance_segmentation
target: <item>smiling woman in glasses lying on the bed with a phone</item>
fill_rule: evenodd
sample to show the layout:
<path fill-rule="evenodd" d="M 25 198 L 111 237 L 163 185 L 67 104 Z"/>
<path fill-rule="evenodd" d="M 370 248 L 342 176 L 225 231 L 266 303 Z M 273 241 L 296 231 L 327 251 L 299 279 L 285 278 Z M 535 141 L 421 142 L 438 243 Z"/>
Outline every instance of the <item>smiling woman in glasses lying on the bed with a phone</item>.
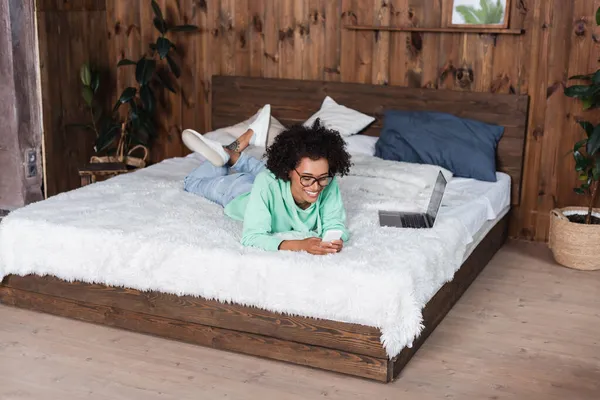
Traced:
<path fill-rule="evenodd" d="M 224 206 L 226 215 L 244 221 L 244 246 L 316 255 L 341 251 L 349 234 L 335 176 L 350 169 L 344 140 L 319 121 L 311 128 L 292 126 L 267 149 L 265 164 L 243 151 L 250 144 L 265 146 L 270 119 L 266 105 L 249 129 L 225 147 L 185 130 L 186 146 L 209 161 L 185 178 L 185 190 Z M 229 168 L 237 173 L 229 174 Z M 341 240 L 323 242 L 322 235 L 332 229 L 342 231 Z"/>

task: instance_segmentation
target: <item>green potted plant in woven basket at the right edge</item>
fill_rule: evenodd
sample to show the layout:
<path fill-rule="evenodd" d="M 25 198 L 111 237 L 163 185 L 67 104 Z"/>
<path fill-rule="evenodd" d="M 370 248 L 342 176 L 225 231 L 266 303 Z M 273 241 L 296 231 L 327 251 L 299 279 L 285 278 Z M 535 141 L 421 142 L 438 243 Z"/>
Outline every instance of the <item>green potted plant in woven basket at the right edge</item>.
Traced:
<path fill-rule="evenodd" d="M 596 12 L 600 25 L 600 8 Z M 600 107 L 600 69 L 587 75 L 572 76 L 585 82 L 565 88 L 565 95 L 580 99 L 584 110 Z M 600 197 L 600 124 L 578 121 L 585 138 L 571 151 L 581 184 L 575 192 L 587 197 L 587 207 L 554 209 L 550 215 L 549 246 L 555 260 L 567 267 L 600 269 L 600 209 L 594 208 Z"/>

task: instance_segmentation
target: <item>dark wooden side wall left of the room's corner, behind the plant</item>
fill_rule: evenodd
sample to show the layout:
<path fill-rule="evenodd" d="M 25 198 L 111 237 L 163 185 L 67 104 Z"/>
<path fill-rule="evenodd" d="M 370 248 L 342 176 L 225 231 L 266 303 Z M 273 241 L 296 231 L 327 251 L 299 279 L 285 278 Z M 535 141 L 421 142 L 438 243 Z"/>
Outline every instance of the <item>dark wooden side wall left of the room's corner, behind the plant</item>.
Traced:
<path fill-rule="evenodd" d="M 79 68 L 84 62 L 95 65 L 107 89 L 114 88 L 115 79 L 108 67 L 104 0 L 37 0 L 37 24 L 46 195 L 52 196 L 77 188 L 77 168 L 93 155 L 94 134 L 72 127 L 90 121 Z"/>

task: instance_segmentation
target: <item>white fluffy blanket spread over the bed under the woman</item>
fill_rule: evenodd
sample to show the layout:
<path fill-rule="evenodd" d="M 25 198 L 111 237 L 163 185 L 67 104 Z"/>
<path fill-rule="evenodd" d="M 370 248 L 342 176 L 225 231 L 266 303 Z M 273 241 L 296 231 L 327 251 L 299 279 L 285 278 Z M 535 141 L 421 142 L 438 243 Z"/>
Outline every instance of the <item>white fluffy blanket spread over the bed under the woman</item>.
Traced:
<path fill-rule="evenodd" d="M 422 308 L 460 267 L 470 238 L 451 217 L 427 230 L 379 227 L 374 205 L 393 195 L 422 208 L 438 168 L 353 161 L 340 183 L 352 237 L 336 255 L 241 246 L 241 223 L 183 191 L 200 162 L 190 156 L 10 214 L 0 224 L 0 276 L 50 274 L 375 326 L 393 357 L 420 334 Z"/>

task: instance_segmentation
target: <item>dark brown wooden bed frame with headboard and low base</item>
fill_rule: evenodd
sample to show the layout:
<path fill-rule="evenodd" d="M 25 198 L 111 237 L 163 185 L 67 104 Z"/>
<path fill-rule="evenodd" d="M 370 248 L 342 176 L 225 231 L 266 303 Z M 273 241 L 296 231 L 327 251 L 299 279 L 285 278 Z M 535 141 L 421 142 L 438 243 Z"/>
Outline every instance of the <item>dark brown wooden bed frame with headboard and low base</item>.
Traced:
<path fill-rule="evenodd" d="M 391 86 L 282 79 L 213 77 L 213 129 L 235 124 L 270 103 L 284 124 L 303 122 L 326 95 L 377 117 L 365 133 L 378 135 L 385 109 L 435 110 L 504 126 L 498 169 L 513 180 L 512 204 L 520 197 L 527 96 L 436 91 Z M 109 325 L 381 382 L 394 380 L 507 237 L 500 220 L 423 310 L 425 330 L 388 359 L 381 332 L 369 326 L 287 316 L 255 307 L 193 296 L 69 283 L 54 277 L 9 275 L 0 285 L 7 305 Z"/>

